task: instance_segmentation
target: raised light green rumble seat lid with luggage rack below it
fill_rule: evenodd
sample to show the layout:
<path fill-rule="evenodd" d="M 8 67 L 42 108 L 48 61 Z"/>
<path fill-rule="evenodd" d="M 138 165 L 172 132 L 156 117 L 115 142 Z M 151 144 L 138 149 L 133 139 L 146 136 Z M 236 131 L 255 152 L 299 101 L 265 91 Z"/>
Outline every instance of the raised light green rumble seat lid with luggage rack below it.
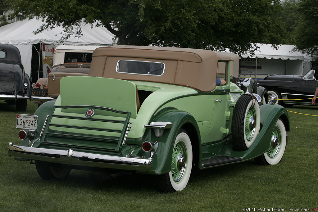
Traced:
<path fill-rule="evenodd" d="M 64 77 L 60 87 L 42 143 L 120 152 L 129 120 L 137 116 L 136 85 L 120 79 Z"/>

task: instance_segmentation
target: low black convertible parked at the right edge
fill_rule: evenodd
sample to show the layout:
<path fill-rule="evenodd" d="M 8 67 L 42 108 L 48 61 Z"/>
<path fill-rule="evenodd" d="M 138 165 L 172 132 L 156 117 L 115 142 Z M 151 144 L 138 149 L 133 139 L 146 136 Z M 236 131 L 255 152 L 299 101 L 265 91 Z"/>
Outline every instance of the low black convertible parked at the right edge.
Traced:
<path fill-rule="evenodd" d="M 270 75 L 257 84 L 267 89 L 269 103 L 292 106 L 312 105 L 317 82 L 318 66 L 303 76 Z"/>

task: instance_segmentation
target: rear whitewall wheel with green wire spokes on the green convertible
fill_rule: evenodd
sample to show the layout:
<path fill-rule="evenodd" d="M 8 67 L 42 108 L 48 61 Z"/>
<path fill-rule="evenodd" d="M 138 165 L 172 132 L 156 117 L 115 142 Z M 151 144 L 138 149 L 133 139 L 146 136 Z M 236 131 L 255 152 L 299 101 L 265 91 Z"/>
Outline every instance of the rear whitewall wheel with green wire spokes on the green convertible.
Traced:
<path fill-rule="evenodd" d="M 188 133 L 181 129 L 173 145 L 171 170 L 159 175 L 159 189 L 164 193 L 183 190 L 188 184 L 191 169 L 191 140 Z"/>

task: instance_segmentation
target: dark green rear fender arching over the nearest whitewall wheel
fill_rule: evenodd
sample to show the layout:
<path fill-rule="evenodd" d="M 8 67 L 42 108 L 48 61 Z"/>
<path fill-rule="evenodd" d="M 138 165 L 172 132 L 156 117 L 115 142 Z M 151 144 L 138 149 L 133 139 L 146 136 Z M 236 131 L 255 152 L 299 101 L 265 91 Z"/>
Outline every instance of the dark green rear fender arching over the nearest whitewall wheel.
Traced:
<path fill-rule="evenodd" d="M 156 138 L 154 130 L 149 129 L 151 131 L 151 138 L 158 141 L 158 149 L 153 156 L 153 174 L 164 174 L 170 171 L 174 141 L 181 128 L 188 131 L 192 142 L 192 149 L 198 155 L 197 151 L 200 150 L 200 142 L 198 142 L 200 140 L 200 132 L 196 120 L 190 113 L 180 110 L 165 110 L 156 115 L 152 122 L 155 121 L 171 122 L 172 126 L 170 129 L 165 129 L 160 138 Z"/>

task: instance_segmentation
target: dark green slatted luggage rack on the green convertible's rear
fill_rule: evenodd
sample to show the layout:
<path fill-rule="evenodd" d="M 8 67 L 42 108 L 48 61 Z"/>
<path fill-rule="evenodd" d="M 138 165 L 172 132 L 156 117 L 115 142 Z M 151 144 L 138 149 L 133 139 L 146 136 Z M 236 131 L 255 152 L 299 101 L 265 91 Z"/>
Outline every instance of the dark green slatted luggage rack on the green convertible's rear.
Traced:
<path fill-rule="evenodd" d="M 119 114 L 126 114 L 125 120 L 113 120 L 113 119 L 100 119 L 93 117 L 76 117 L 70 115 L 57 115 L 52 114 L 48 117 L 47 122 L 45 122 L 42 131 L 44 139 L 43 144 L 57 145 L 57 146 L 67 146 L 67 147 L 79 147 L 79 148 L 98 148 L 102 150 L 111 150 L 119 152 L 120 148 L 125 145 L 128 131 L 130 129 L 129 122 L 130 112 L 119 111 L 108 107 L 101 106 L 88 106 L 88 105 L 70 105 L 70 106 L 55 106 L 55 108 L 69 109 L 69 108 L 87 108 L 95 110 L 105 110 Z M 118 123 L 122 124 L 122 129 L 106 129 L 100 127 L 83 127 L 76 125 L 67 125 L 67 124 L 53 124 L 51 123 L 52 118 L 62 118 L 62 119 L 72 119 L 72 120 L 89 120 L 97 122 L 108 122 L 108 123 Z M 91 135 L 88 133 L 71 133 L 53 130 L 50 127 L 63 127 L 63 128 L 72 128 L 80 130 L 95 130 L 95 131 L 104 131 L 112 133 L 120 133 L 120 136 L 105 136 L 105 135 Z M 62 138 L 62 139 L 61 139 Z M 74 139 L 76 139 L 74 141 Z M 79 141 L 80 140 L 80 141 Z M 92 142 L 93 141 L 93 142 Z"/>

